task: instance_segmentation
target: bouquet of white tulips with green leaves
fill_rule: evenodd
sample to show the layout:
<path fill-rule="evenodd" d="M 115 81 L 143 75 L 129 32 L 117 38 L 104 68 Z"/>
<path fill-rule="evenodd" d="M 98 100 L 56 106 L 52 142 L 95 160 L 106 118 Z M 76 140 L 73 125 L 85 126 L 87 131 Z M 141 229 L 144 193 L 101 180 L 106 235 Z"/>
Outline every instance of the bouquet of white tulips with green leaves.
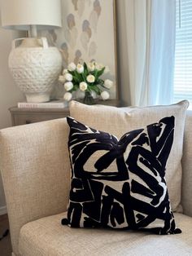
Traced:
<path fill-rule="evenodd" d="M 113 82 L 101 78 L 103 73 L 107 72 L 107 67 L 95 62 L 68 64 L 68 68 L 63 69 L 63 74 L 59 76 L 59 82 L 63 83 L 66 90 L 63 98 L 70 101 L 72 93 L 78 91 L 79 98 L 84 99 L 85 104 L 94 104 L 97 95 L 103 100 L 109 99 L 110 95 L 107 90 L 113 86 Z"/>

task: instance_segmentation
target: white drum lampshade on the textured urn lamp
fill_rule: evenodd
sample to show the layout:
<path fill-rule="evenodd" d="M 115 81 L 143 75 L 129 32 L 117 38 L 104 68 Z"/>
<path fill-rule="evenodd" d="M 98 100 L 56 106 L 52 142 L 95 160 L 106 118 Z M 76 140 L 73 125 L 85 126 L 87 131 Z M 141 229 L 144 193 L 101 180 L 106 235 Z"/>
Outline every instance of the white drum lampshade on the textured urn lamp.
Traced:
<path fill-rule="evenodd" d="M 4 29 L 28 30 L 61 27 L 60 0 L 3 0 L 1 6 Z"/>

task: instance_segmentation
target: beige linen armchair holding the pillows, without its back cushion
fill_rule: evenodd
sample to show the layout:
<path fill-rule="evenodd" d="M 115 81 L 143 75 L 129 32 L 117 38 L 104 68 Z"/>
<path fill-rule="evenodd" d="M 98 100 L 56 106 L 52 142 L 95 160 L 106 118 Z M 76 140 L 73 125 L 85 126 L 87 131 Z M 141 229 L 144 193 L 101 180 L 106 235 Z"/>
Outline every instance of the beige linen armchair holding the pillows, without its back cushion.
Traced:
<path fill-rule="evenodd" d="M 192 113 L 185 124 L 182 233 L 70 228 L 61 225 L 68 205 L 70 162 L 65 118 L 0 131 L 0 168 L 13 255 L 192 255 Z"/>

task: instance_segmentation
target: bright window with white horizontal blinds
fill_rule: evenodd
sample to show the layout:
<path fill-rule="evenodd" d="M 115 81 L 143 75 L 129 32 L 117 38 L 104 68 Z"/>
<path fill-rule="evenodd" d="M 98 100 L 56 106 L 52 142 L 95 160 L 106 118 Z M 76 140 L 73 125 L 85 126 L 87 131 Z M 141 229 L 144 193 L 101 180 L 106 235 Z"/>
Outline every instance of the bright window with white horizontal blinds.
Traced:
<path fill-rule="evenodd" d="M 192 109 L 192 0 L 176 0 L 174 102 L 190 101 Z"/>

